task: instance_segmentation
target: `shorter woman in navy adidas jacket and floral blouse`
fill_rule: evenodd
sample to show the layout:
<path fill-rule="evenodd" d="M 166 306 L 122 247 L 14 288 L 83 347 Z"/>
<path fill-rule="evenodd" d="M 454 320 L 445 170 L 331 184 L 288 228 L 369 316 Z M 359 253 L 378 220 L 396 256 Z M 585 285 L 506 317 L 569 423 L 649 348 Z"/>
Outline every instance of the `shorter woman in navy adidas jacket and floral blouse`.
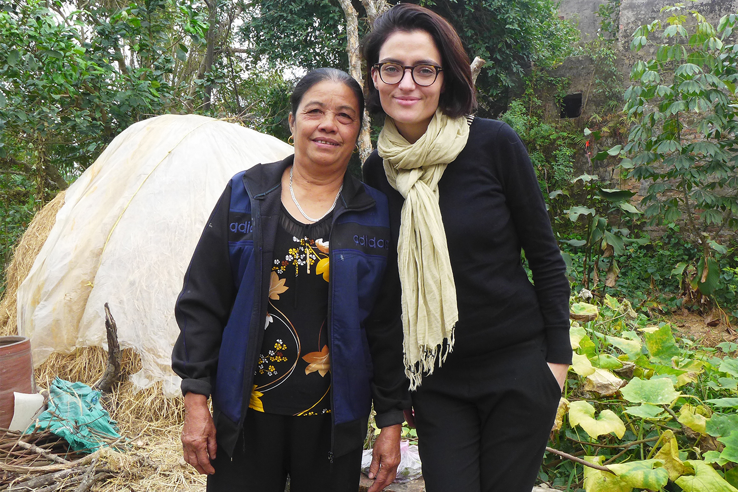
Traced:
<path fill-rule="evenodd" d="M 387 199 L 346 173 L 356 80 L 317 69 L 291 103 L 294 156 L 231 179 L 176 303 L 184 459 L 208 491 L 283 492 L 289 475 L 292 491 L 356 492 L 373 400 L 379 491 L 410 405 L 401 329 L 379 292 L 396 268 Z"/>

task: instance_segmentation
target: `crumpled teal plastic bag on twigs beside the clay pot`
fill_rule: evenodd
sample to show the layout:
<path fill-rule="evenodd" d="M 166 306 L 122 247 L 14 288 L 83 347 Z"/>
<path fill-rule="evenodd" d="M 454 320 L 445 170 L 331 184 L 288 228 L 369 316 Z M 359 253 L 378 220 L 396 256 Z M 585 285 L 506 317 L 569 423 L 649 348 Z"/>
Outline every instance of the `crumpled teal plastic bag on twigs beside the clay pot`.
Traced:
<path fill-rule="evenodd" d="M 117 423 L 100 405 L 100 392 L 86 384 L 55 378 L 49 388 L 49 407 L 26 434 L 48 429 L 66 439 L 73 451 L 92 453 L 120 438 Z"/>

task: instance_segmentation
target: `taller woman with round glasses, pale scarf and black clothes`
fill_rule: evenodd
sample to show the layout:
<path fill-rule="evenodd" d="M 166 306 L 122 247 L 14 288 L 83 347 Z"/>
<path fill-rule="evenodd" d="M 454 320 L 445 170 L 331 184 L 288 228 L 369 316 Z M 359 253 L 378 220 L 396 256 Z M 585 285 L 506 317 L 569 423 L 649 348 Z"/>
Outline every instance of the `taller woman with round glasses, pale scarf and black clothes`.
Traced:
<path fill-rule="evenodd" d="M 367 105 L 386 115 L 364 176 L 398 238 L 386 290 L 426 490 L 529 492 L 571 361 L 569 283 L 534 168 L 508 125 L 468 116 L 469 58 L 444 18 L 396 5 L 364 56 Z"/>

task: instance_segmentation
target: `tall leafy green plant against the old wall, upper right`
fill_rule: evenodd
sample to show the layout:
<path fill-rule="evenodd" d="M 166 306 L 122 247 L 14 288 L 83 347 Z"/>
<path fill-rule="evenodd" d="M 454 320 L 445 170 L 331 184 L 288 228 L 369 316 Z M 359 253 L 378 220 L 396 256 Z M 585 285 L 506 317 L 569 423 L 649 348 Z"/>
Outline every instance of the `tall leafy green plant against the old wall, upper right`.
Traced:
<path fill-rule="evenodd" d="M 639 51 L 661 35 L 655 56 L 633 66 L 624 111 L 635 125 L 617 150 L 630 178 L 652 181 L 646 217 L 683 221 L 699 243 L 703 232 L 738 229 L 738 45 L 728 42 L 738 16 L 716 29 L 683 4 L 663 12 L 666 21 L 638 28 L 631 43 Z"/>

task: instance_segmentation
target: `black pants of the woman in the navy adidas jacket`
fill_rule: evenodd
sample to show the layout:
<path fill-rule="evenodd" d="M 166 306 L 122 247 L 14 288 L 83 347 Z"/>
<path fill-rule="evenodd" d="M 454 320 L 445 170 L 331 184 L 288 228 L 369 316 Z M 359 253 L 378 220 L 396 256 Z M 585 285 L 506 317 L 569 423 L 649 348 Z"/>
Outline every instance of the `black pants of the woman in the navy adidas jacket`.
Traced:
<path fill-rule="evenodd" d="M 331 415 L 292 417 L 249 410 L 233 457 L 218 451 L 209 492 L 356 492 L 362 449 L 328 460 Z"/>

